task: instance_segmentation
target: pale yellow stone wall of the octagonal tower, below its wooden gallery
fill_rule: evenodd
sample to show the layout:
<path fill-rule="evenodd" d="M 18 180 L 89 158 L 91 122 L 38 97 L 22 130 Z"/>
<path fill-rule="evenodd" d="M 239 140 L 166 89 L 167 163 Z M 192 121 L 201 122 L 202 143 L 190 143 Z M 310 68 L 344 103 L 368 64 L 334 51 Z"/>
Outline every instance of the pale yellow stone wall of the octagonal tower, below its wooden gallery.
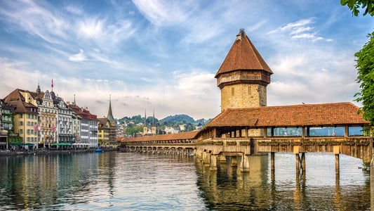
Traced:
<path fill-rule="evenodd" d="M 221 111 L 227 108 L 267 106 L 266 87 L 260 84 L 226 85 L 221 89 Z"/>

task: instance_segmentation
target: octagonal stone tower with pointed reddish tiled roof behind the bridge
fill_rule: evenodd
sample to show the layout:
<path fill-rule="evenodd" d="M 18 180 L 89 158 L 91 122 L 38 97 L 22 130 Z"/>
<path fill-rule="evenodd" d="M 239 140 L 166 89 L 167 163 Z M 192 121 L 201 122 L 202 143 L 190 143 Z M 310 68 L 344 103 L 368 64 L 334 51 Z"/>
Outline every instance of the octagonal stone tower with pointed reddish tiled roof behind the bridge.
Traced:
<path fill-rule="evenodd" d="M 267 106 L 266 87 L 272 74 L 244 30 L 240 30 L 215 74 L 221 89 L 221 111 Z"/>

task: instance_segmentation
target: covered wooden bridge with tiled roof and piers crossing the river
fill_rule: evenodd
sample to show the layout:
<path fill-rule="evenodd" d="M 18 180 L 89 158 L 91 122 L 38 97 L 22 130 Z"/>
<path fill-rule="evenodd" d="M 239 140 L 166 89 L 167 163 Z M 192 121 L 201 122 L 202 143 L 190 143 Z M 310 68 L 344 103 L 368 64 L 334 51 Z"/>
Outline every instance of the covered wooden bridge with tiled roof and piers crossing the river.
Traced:
<path fill-rule="evenodd" d="M 372 130 L 358 110 L 352 103 L 228 108 L 199 132 L 144 136 L 122 142 L 123 146 L 138 150 L 193 148 L 213 170 L 216 158 L 234 156 L 244 172 L 249 165 L 248 155 L 271 153 L 274 170 L 274 153 L 292 152 L 296 155 L 296 167 L 305 170 L 305 153 L 330 152 L 335 154 L 339 170 L 340 153 L 361 158 L 363 162 L 370 162 L 373 155 Z M 311 133 L 312 129 L 323 127 L 342 128 L 344 134 L 316 136 Z M 352 134 L 349 131 L 354 127 L 367 130 Z M 292 134 L 276 133 L 290 128 Z"/>

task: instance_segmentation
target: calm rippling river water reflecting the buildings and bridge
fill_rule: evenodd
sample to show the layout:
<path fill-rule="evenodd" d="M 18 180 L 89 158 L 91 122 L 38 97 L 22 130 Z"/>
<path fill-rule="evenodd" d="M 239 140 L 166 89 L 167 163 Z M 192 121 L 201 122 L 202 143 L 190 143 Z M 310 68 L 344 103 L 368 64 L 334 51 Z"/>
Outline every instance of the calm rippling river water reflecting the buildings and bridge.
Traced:
<path fill-rule="evenodd" d="M 359 159 L 307 153 L 251 156 L 249 173 L 194 157 L 82 153 L 0 157 L 0 210 L 370 210 L 370 175 Z"/>

